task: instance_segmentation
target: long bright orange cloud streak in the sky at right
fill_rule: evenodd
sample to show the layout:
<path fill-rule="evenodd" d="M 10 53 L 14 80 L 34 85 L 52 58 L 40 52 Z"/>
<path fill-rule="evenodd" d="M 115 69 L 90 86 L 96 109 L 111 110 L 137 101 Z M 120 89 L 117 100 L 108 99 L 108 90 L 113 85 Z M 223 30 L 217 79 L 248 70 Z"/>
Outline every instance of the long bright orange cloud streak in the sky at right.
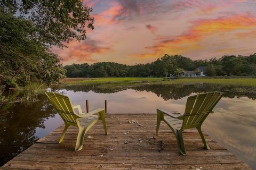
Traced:
<path fill-rule="evenodd" d="M 199 41 L 214 33 L 220 34 L 227 31 L 256 28 L 256 18 L 252 18 L 249 15 L 234 15 L 229 18 L 218 18 L 214 20 L 197 20 L 193 23 L 194 25 L 188 31 L 183 32 L 182 35 L 162 39 L 155 46 L 146 47 L 146 49 L 153 51 L 153 53 L 137 56 L 159 57 L 159 55 L 166 53 L 182 54 L 189 50 L 199 49 Z"/>

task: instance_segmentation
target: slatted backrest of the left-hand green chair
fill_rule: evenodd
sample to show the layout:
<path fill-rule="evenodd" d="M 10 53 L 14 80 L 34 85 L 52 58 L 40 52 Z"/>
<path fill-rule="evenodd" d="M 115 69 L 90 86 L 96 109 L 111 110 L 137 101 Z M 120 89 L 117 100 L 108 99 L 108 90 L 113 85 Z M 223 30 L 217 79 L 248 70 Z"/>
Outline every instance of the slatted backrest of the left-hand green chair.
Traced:
<path fill-rule="evenodd" d="M 54 92 L 45 92 L 45 94 L 64 121 L 77 123 L 77 116 L 74 114 L 73 106 L 67 96 Z"/>

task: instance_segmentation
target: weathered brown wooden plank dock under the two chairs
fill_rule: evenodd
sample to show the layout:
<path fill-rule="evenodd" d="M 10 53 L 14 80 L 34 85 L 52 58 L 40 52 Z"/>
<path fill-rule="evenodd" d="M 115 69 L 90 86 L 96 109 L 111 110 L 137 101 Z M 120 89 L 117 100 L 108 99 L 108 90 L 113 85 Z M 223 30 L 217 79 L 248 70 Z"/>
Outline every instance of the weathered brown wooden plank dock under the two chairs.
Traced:
<path fill-rule="evenodd" d="M 205 134 L 205 150 L 196 130 L 183 133 L 187 156 L 165 123 L 155 137 L 156 114 L 107 114 L 108 135 L 98 122 L 85 135 L 81 151 L 74 151 L 77 128 L 71 127 L 61 144 L 63 125 L 6 163 L 2 169 L 250 169 L 242 160 Z"/>

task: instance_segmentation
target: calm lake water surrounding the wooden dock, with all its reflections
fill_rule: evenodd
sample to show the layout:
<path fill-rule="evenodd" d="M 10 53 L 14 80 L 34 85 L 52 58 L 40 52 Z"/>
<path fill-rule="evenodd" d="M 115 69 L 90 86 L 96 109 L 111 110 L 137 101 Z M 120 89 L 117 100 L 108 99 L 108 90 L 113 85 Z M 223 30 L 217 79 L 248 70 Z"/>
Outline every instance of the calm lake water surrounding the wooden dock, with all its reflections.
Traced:
<path fill-rule="evenodd" d="M 222 146 L 256 169 L 256 91 L 254 88 L 197 85 L 74 85 L 49 89 L 70 97 L 73 105 L 90 111 L 104 107 L 109 113 L 156 113 L 185 110 L 187 97 L 208 91 L 222 91 L 225 96 L 203 124 L 203 130 Z M 9 91 L 9 96 L 24 96 L 21 91 Z M 27 149 L 63 122 L 44 95 L 35 102 L 10 103 L 0 106 L 0 166 Z M 146 118 L 146 117 L 145 117 Z M 154 131 L 154 130 L 153 130 Z M 202 144 L 203 145 L 203 144 Z"/>

